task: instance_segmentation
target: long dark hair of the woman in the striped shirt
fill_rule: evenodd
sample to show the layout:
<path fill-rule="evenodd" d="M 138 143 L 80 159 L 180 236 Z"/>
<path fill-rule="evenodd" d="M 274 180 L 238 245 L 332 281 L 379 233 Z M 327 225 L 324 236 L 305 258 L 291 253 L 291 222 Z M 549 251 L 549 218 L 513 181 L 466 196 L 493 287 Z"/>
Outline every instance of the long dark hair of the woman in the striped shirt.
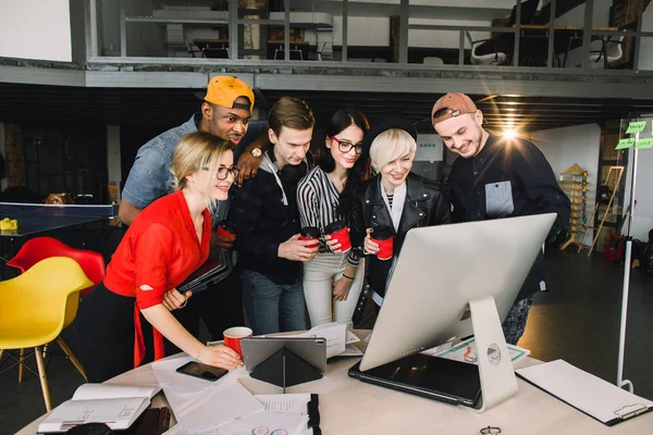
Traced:
<path fill-rule="evenodd" d="M 366 133 L 370 129 L 370 124 L 362 113 L 355 109 L 338 110 L 331 116 L 331 121 L 324 132 L 324 137 L 321 137 L 318 148 L 316 150 L 316 163 L 320 165 L 322 171 L 330 173 L 335 169 L 335 161 L 331 156 L 331 150 L 326 148 L 326 137 L 336 136 L 338 133 L 344 130 L 350 125 L 356 125 L 358 128 Z M 340 202 L 337 206 L 338 213 L 349 221 L 352 210 L 354 207 L 355 192 L 359 187 L 370 177 L 370 160 L 367 156 L 362 154 L 354 163 L 354 167 L 347 171 L 347 179 L 345 179 L 345 188 L 340 195 Z"/>

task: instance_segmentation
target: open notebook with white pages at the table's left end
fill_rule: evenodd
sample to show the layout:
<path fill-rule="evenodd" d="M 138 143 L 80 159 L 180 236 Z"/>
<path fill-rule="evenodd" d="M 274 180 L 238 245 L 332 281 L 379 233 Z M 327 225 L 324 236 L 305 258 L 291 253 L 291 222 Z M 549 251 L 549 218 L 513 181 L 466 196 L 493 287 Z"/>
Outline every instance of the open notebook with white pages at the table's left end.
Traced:
<path fill-rule="evenodd" d="M 85 423 L 106 423 L 112 430 L 128 428 L 159 393 L 157 386 L 84 384 L 38 425 L 39 433 L 66 432 Z"/>

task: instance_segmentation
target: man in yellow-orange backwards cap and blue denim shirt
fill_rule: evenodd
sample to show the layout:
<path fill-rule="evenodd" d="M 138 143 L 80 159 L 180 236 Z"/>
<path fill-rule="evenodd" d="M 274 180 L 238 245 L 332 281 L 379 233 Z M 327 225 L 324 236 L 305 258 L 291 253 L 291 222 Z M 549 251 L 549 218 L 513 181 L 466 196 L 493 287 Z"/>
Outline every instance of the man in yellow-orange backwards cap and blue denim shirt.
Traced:
<path fill-rule="evenodd" d="M 254 109 L 251 88 L 236 77 L 215 76 L 209 82 L 206 94 L 198 92 L 196 97 L 204 100 L 200 112 L 193 114 L 184 124 L 155 137 L 138 150 L 122 191 L 118 213 L 122 223 L 130 225 L 143 209 L 170 192 L 173 179 L 170 165 L 174 149 L 180 139 L 189 133 L 207 132 L 233 144 L 234 159 L 237 159 L 241 170 L 238 184 L 256 175 L 268 142 L 267 122 L 249 122 Z M 218 202 L 212 215 L 213 228 L 226 217 L 227 210 L 229 200 Z M 220 236 L 217 232 L 211 235 L 211 248 L 219 249 L 218 253 L 229 265 L 227 273 L 233 269 L 233 260 L 231 252 L 226 251 L 232 249 L 234 241 L 235 238 Z M 201 316 L 211 336 L 221 338 L 226 327 L 244 323 L 239 281 L 237 277 L 226 279 L 219 283 L 219 288 L 197 294 L 184 310 L 176 308 L 189 298 L 189 294 L 169 291 L 164 302 L 195 336 L 199 334 Z"/>

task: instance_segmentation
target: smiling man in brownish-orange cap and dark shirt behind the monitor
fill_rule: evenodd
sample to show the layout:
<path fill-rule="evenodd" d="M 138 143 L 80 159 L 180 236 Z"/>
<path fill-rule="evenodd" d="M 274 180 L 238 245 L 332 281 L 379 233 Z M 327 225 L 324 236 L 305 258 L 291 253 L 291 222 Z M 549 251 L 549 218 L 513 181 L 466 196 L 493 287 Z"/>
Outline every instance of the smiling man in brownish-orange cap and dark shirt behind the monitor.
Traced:
<path fill-rule="evenodd" d="M 465 94 L 447 94 L 431 112 L 433 128 L 459 156 L 449 174 L 453 222 L 483 221 L 557 213 L 552 232 L 567 225 L 569 198 L 557 185 L 551 165 L 526 139 L 504 139 L 482 127 L 483 112 Z M 503 323 L 506 343 L 523 334 L 533 294 L 546 290 L 544 256 L 538 256 L 513 309 Z"/>

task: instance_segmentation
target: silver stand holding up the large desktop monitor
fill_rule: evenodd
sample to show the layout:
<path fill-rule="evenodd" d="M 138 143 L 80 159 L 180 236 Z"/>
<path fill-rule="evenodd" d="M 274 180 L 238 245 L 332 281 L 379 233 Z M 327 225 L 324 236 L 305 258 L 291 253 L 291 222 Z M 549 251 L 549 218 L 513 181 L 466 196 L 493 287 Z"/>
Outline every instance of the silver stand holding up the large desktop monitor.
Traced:
<path fill-rule="evenodd" d="M 483 412 L 517 394 L 517 378 L 493 297 L 469 302 L 477 346 L 481 397 L 471 409 Z"/>

